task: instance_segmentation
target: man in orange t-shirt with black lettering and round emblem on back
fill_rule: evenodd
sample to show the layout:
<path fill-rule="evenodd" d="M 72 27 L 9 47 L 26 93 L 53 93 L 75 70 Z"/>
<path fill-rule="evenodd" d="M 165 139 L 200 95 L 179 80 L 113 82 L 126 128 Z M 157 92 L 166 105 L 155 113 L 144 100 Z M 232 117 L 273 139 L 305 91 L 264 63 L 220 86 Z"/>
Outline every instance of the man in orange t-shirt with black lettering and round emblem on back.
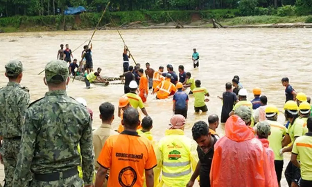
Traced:
<path fill-rule="evenodd" d="M 110 136 L 97 160 L 100 167 L 96 174 L 95 187 L 101 187 L 110 168 L 108 186 L 141 187 L 144 170 L 147 187 L 154 187 L 154 171 L 157 159 L 152 143 L 136 132 L 140 124 L 139 112 L 134 108 L 124 111 L 124 131 Z"/>

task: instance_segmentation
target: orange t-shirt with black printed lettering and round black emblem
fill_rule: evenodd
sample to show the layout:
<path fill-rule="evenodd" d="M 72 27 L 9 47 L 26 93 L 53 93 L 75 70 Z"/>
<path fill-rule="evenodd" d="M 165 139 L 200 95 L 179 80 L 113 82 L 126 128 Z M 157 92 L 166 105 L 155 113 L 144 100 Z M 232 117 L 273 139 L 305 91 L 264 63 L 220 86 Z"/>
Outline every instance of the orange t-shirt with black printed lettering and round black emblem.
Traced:
<path fill-rule="evenodd" d="M 107 186 L 142 187 L 145 170 L 157 165 L 152 143 L 127 130 L 105 141 L 97 162 L 103 168 L 110 168 Z"/>

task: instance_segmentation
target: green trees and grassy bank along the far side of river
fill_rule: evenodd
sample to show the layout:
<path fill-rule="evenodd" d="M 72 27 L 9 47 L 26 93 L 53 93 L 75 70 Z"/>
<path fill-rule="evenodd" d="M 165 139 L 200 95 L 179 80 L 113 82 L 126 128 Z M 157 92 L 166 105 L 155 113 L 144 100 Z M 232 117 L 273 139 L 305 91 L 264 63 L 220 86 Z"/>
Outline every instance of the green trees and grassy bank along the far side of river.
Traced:
<path fill-rule="evenodd" d="M 111 0 L 100 26 L 142 21 L 185 24 L 211 18 L 225 25 L 312 22 L 311 0 Z M 88 29 L 97 24 L 106 0 L 0 0 L 0 28 L 4 32 Z M 85 6 L 90 12 L 62 15 L 66 7 Z M 64 24 L 65 23 L 65 24 Z M 65 27 L 65 28 L 64 28 Z"/>

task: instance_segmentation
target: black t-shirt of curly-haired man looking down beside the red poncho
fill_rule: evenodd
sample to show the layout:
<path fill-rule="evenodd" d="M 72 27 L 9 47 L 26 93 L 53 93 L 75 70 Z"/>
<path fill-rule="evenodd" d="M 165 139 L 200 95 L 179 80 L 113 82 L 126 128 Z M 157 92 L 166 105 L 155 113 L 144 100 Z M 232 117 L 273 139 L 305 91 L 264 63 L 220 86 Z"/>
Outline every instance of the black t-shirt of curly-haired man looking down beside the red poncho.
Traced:
<path fill-rule="evenodd" d="M 209 174 L 210 174 L 210 169 L 211 169 L 211 164 L 212 164 L 212 157 L 213 157 L 213 149 L 214 145 L 217 142 L 217 138 L 214 135 L 211 135 L 213 141 L 212 147 L 210 150 L 205 154 L 202 149 L 197 146 L 197 153 L 198 153 L 198 158 L 200 161 L 200 171 L 199 171 L 199 186 L 200 187 L 210 187 L 210 179 L 209 179 Z"/>

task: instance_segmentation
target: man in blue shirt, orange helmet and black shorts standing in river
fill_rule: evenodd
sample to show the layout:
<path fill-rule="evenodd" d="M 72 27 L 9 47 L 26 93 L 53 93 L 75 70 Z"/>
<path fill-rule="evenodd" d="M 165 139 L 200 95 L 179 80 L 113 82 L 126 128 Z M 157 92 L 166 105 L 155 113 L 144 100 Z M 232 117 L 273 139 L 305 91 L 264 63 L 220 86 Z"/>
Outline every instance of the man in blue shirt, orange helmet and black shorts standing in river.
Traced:
<path fill-rule="evenodd" d="M 173 107 L 174 114 L 181 114 L 185 118 L 188 117 L 188 94 L 182 91 L 183 84 L 177 83 L 178 91 L 173 95 Z"/>

